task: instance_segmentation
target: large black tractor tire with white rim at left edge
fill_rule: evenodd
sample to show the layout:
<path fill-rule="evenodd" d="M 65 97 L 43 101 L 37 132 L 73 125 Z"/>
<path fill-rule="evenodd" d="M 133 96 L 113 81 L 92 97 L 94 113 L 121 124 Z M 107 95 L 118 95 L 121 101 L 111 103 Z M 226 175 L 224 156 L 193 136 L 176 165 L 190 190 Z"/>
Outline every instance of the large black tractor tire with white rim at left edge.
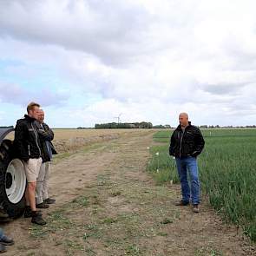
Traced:
<path fill-rule="evenodd" d="M 0 145 L 0 207 L 10 219 L 23 215 L 25 188 L 23 162 L 13 159 L 12 141 L 3 140 Z"/>

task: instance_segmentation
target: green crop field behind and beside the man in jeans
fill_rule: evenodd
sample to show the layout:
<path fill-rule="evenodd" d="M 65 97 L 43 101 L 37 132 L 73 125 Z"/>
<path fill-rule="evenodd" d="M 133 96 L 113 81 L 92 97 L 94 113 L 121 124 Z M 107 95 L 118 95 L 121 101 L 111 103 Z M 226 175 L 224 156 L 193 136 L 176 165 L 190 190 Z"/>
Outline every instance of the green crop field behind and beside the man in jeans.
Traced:
<path fill-rule="evenodd" d="M 202 191 L 225 220 L 241 226 L 256 241 L 256 129 L 205 129 L 202 133 L 206 141 L 198 158 Z M 157 146 L 150 149 L 148 171 L 158 184 L 179 182 L 175 161 L 168 155 L 170 135 L 170 131 L 157 132 Z"/>

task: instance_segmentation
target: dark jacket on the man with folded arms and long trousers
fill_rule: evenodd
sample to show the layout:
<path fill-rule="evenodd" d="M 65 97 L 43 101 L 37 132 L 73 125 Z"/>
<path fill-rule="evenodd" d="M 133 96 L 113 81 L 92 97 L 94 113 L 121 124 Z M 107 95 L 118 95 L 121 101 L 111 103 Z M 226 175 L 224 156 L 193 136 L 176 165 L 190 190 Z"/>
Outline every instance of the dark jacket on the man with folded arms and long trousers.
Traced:
<path fill-rule="evenodd" d="M 54 139 L 54 133 L 49 126 L 43 122 L 38 124 L 38 134 L 42 145 L 42 159 L 43 162 L 51 161 L 52 154 L 56 154 L 56 150 L 51 141 Z"/>

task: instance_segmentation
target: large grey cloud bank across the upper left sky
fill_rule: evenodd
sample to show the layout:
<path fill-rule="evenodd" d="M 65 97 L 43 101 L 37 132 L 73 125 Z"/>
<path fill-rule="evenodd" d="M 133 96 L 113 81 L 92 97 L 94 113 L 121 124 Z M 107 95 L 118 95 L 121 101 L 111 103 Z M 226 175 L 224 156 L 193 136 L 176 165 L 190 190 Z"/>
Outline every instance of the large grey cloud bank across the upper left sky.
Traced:
<path fill-rule="evenodd" d="M 0 34 L 81 50 L 108 63 L 123 62 L 130 55 L 151 49 L 140 38 L 143 30 L 147 30 L 148 14 L 130 3 L 115 0 L 3 1 L 0 3 Z"/>

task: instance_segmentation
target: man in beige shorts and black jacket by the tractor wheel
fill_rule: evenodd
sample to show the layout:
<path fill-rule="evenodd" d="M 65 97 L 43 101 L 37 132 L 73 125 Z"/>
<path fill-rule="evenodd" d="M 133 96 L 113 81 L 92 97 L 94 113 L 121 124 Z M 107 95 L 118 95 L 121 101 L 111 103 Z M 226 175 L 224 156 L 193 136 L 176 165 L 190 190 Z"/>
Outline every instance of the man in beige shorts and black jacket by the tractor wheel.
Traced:
<path fill-rule="evenodd" d="M 28 115 L 16 121 L 14 145 L 16 157 L 23 161 L 28 185 L 26 187 L 26 208 L 24 217 L 32 217 L 31 222 L 45 225 L 42 214 L 36 211 L 36 179 L 42 164 L 42 150 L 36 119 L 40 105 L 31 102 L 27 107 Z"/>

